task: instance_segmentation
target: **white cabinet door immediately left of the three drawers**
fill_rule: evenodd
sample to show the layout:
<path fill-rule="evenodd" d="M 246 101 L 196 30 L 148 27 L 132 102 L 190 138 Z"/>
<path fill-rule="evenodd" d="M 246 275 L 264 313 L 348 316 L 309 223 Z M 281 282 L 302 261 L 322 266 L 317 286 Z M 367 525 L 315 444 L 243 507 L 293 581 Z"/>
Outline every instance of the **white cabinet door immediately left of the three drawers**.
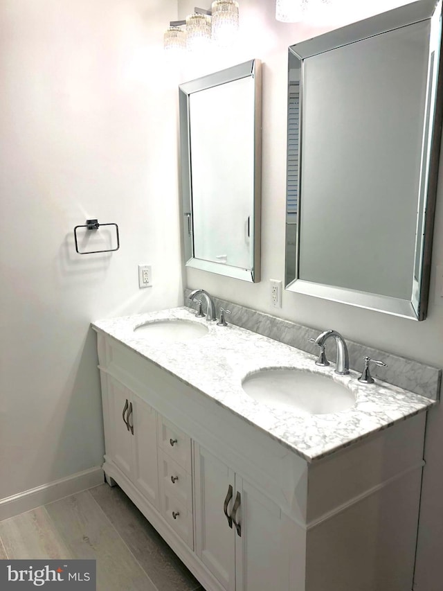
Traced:
<path fill-rule="evenodd" d="M 136 394 L 132 394 L 132 414 L 129 416 L 129 423 L 134 428 L 133 482 L 143 496 L 158 509 L 156 412 Z"/>

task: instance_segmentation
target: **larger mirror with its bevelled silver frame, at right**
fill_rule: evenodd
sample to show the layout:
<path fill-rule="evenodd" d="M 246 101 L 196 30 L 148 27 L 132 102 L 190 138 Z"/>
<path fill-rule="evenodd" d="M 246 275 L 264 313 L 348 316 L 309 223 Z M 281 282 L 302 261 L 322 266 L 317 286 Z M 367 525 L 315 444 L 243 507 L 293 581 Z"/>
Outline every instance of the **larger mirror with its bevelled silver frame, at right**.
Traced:
<path fill-rule="evenodd" d="M 442 2 L 289 48 L 286 289 L 426 317 Z"/>

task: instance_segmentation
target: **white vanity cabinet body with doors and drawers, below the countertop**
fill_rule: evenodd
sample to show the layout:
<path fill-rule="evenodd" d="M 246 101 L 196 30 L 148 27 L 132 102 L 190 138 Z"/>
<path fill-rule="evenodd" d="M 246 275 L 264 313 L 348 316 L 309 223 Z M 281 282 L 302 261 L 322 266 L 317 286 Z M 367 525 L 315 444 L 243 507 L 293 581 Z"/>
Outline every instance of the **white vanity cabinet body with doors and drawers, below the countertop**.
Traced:
<path fill-rule="evenodd" d="M 426 413 L 308 462 L 100 330 L 98 353 L 108 482 L 206 591 L 412 590 Z"/>

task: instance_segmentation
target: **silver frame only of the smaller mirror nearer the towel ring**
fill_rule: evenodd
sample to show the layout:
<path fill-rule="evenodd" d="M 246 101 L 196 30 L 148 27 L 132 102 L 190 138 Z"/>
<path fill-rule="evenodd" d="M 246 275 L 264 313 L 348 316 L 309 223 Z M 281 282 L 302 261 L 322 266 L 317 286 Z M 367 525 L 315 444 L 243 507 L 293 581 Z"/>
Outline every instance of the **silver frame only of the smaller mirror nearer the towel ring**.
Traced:
<path fill-rule="evenodd" d="M 192 170 L 190 145 L 190 96 L 204 89 L 252 78 L 254 82 L 254 137 L 253 137 L 253 191 L 251 192 L 251 224 L 250 224 L 250 269 L 233 267 L 215 261 L 205 261 L 194 256 L 194 227 L 192 219 Z M 181 216 L 183 256 L 186 267 L 209 271 L 257 283 L 260 281 L 260 225 L 261 225 L 261 159 L 262 159 L 262 73 L 259 60 L 249 60 L 219 72 L 208 74 L 197 80 L 179 85 L 180 114 L 180 161 L 181 161 Z"/>

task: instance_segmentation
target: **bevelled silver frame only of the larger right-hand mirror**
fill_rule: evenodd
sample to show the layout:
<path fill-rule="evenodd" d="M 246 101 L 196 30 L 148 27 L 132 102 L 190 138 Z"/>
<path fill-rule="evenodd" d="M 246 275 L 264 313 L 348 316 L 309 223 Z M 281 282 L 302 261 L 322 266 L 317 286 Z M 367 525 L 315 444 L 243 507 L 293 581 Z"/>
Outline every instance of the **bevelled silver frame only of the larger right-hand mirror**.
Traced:
<path fill-rule="evenodd" d="M 304 62 L 307 58 L 331 51 L 335 48 L 353 44 L 355 42 L 388 33 L 404 26 L 415 24 L 419 21 L 431 19 L 431 39 L 433 34 L 437 35 L 437 42 L 434 48 L 434 59 L 431 59 L 433 46 L 430 42 L 429 62 L 428 62 L 428 80 L 427 93 L 424 112 L 424 130 L 423 147 L 421 155 L 421 170 L 418 204 L 422 204 L 422 215 L 424 221 L 422 226 L 419 224 L 420 211 L 417 214 L 417 238 L 415 245 L 415 259 L 419 260 L 419 271 L 417 279 L 413 277 L 411 282 L 410 300 L 388 297 L 370 292 L 361 292 L 350 288 L 341 288 L 334 285 L 325 285 L 313 281 L 305 281 L 299 277 L 299 253 L 300 253 L 300 207 L 302 207 L 303 196 L 301 194 L 301 164 L 302 164 L 302 110 L 303 110 L 303 76 Z M 298 208 L 294 213 L 296 220 L 297 238 L 294 247 L 289 248 L 289 223 L 286 224 L 286 245 L 287 254 L 293 254 L 296 259 L 295 278 L 294 274 L 289 276 L 287 272 L 287 261 L 285 266 L 285 289 L 291 292 L 310 295 L 322 299 L 328 299 L 340 303 L 347 303 L 351 306 L 386 312 L 391 315 L 424 320 L 426 318 L 429 279 L 431 274 L 431 252 L 433 240 L 433 223 L 435 214 L 435 199 L 437 193 L 437 175 L 440 159 L 440 141 L 442 134 L 442 98 L 443 98 L 443 51 L 442 51 L 442 0 L 419 0 L 414 3 L 400 6 L 394 10 L 384 12 L 369 19 L 333 30 L 325 35 L 308 39 L 289 46 L 289 64 L 288 64 L 288 90 L 291 56 L 298 59 L 300 67 L 300 112 L 299 112 L 299 136 L 298 136 L 298 179 L 297 179 L 297 197 Z M 293 58 L 292 58 L 293 59 Z M 289 97 L 288 97 L 289 98 Z M 430 100 L 430 98 L 432 100 Z M 289 103 L 288 103 L 289 105 Z M 289 132 L 289 129 L 288 129 Z M 288 161 L 288 160 L 287 160 Z M 288 161 L 289 162 L 289 161 Z M 289 169 L 287 170 L 287 214 L 289 212 L 288 202 L 289 191 Z M 422 240 L 418 240 L 420 228 L 423 228 Z M 417 258 L 417 249 L 420 256 Z M 414 273 L 415 275 L 415 273 Z M 415 296 L 414 294 L 417 294 Z"/>

